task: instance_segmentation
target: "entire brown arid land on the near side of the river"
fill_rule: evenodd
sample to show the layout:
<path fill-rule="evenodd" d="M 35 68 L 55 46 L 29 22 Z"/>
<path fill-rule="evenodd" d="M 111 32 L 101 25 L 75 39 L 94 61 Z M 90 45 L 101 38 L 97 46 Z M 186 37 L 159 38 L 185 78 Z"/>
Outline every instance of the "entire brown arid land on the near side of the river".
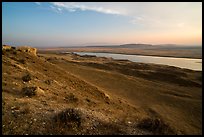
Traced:
<path fill-rule="evenodd" d="M 2 132 L 201 135 L 202 72 L 2 46 Z"/>

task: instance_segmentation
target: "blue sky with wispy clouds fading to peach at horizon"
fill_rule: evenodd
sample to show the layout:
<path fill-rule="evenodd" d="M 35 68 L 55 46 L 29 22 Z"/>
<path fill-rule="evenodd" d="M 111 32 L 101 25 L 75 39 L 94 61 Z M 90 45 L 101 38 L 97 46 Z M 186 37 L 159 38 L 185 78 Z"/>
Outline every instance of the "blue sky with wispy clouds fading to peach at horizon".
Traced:
<path fill-rule="evenodd" d="M 202 45 L 202 3 L 2 2 L 2 43 Z"/>

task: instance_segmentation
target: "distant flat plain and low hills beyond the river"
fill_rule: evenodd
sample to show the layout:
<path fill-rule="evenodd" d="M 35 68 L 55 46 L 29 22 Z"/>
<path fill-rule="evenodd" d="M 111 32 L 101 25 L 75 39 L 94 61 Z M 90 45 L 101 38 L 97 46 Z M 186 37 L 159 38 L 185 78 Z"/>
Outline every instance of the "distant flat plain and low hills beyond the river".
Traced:
<path fill-rule="evenodd" d="M 181 45 L 149 45 L 149 44 L 124 44 L 115 46 L 86 46 L 69 48 L 45 48 L 41 51 L 60 52 L 103 52 L 121 53 L 130 55 L 178 57 L 178 58 L 202 58 L 202 46 Z"/>

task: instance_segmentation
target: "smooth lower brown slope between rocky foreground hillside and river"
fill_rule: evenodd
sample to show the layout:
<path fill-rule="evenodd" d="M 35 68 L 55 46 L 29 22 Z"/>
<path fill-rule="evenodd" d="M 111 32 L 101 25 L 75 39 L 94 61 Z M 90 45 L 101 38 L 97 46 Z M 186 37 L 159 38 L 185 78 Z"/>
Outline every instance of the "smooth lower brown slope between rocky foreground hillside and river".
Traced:
<path fill-rule="evenodd" d="M 163 117 L 183 132 L 201 132 L 201 72 L 76 55 L 59 58 L 63 59 L 49 61 L 151 115 Z"/>

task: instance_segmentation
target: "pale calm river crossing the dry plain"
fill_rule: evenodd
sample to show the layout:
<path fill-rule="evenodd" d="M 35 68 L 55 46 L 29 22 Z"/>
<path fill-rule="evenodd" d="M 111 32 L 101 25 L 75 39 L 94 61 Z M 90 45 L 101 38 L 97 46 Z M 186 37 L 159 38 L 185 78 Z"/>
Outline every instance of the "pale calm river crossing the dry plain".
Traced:
<path fill-rule="evenodd" d="M 132 62 L 163 64 L 202 71 L 202 59 L 126 55 L 114 53 L 92 53 L 92 52 L 74 52 L 74 53 L 78 55 L 95 55 L 97 57 L 111 57 L 113 59 L 127 59 Z"/>

